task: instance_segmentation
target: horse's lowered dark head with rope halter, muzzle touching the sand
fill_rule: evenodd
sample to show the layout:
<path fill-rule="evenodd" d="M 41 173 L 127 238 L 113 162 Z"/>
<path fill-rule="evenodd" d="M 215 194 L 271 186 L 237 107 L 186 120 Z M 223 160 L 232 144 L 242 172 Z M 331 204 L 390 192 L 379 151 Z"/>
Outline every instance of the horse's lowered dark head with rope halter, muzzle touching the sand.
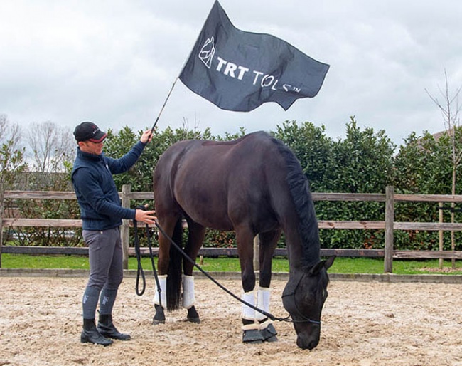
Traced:
<path fill-rule="evenodd" d="M 294 321 L 300 348 L 312 350 L 319 343 L 321 311 L 328 296 L 327 270 L 334 259 L 331 257 L 308 271 L 291 276 L 282 293 L 282 303 Z"/>

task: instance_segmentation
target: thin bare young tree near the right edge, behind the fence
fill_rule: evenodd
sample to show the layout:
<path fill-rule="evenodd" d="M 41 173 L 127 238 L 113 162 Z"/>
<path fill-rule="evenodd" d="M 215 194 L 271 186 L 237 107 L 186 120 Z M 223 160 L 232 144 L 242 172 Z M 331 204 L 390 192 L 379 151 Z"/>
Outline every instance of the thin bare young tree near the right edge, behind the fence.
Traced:
<path fill-rule="evenodd" d="M 460 141 L 457 141 L 458 130 L 460 127 L 460 118 L 459 113 L 461 111 L 461 105 L 458 103 L 458 96 L 461 93 L 462 85 L 456 90 L 453 95 L 449 90 L 449 82 L 448 82 L 448 75 L 446 70 L 444 70 L 444 81 L 445 81 L 445 88 L 441 90 L 439 88 L 439 93 L 443 97 L 443 102 L 439 102 L 438 98 L 434 97 L 429 93 L 428 90 L 425 89 L 426 93 L 429 95 L 431 100 L 436 104 L 439 108 L 441 115 L 443 116 L 444 121 L 444 129 L 446 130 L 446 134 L 449 137 L 449 141 L 451 143 L 451 158 L 452 158 L 452 190 L 451 194 L 456 194 L 456 171 L 458 164 L 461 163 L 462 159 L 462 149 L 459 148 Z M 459 135 L 460 136 L 460 135 Z M 459 143 L 458 143 L 459 142 Z M 451 222 L 454 222 L 454 207 L 455 203 L 451 204 Z M 454 231 L 451 231 L 451 249 L 456 249 L 456 241 L 454 236 Z M 441 266 L 441 261 L 440 261 Z M 452 267 L 456 268 L 456 261 L 455 259 L 452 260 Z"/>

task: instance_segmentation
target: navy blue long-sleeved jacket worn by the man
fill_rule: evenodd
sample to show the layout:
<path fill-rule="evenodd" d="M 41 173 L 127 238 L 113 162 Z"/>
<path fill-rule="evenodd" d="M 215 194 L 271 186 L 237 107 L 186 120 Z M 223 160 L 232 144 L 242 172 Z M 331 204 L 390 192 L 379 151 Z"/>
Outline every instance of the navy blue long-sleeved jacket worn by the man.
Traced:
<path fill-rule="evenodd" d="M 122 225 L 122 219 L 134 219 L 135 210 L 121 206 L 119 192 L 112 174 L 127 172 L 138 160 L 144 149 L 139 141 L 120 159 L 82 152 L 77 147 L 77 157 L 72 169 L 72 184 L 80 205 L 82 229 L 107 230 Z"/>

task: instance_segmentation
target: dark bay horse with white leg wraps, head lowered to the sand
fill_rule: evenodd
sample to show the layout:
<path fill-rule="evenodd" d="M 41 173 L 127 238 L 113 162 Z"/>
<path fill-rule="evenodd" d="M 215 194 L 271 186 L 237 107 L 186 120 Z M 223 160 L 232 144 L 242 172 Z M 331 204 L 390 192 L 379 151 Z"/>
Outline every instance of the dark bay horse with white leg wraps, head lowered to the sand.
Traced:
<path fill-rule="evenodd" d="M 321 261 L 318 222 L 308 180 L 299 161 L 281 141 L 265 132 L 238 140 L 184 140 L 163 153 L 154 172 L 154 201 L 159 225 L 177 244 L 182 219 L 188 223 L 184 251 L 195 260 L 205 228 L 234 230 L 242 274 L 242 300 L 269 312 L 272 256 L 284 231 L 289 256 L 289 281 L 282 295 L 294 321 L 296 344 L 318 345 L 321 310 L 327 298 L 327 269 Z M 259 235 L 259 288 L 253 266 L 254 237 Z M 181 305 L 188 320 L 199 323 L 195 310 L 193 264 L 159 234 L 159 283 L 154 298 L 154 323 L 165 321 L 164 308 Z M 183 288 L 183 293 L 181 293 Z M 265 315 L 242 305 L 242 340 L 276 340 Z"/>

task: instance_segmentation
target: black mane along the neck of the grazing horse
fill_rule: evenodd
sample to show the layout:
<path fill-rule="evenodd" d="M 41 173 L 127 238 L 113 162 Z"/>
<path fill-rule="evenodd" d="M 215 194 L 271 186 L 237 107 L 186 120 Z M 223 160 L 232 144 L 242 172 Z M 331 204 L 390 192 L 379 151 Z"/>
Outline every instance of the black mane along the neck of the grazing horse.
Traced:
<path fill-rule="evenodd" d="M 296 213 L 299 216 L 299 230 L 303 249 L 303 265 L 306 267 L 318 263 L 320 244 L 318 221 L 314 210 L 313 199 L 311 198 L 308 179 L 299 160 L 284 143 L 272 137 L 279 152 L 284 157 L 287 167 L 286 182 L 289 184 L 291 197 L 294 200 Z"/>

